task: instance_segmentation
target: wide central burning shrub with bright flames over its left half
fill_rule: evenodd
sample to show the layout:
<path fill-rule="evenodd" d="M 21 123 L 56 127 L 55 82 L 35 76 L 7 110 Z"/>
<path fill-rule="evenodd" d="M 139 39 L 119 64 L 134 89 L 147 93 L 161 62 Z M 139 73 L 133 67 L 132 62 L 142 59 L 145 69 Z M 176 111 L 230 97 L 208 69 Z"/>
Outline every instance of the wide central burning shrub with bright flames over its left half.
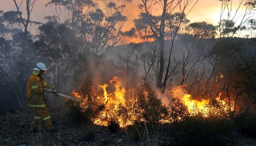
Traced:
<path fill-rule="evenodd" d="M 119 90 L 119 85 L 117 89 Z M 157 123 L 167 116 L 166 107 L 162 105 L 156 92 L 148 85 L 137 88 L 135 98 L 128 103 L 125 103 L 123 98 L 120 98 L 123 97 L 122 95 L 117 96 L 116 100 L 107 101 L 110 103 L 106 103 L 107 107 L 104 109 L 103 114 L 100 115 L 99 124 L 106 125 L 104 122 L 108 121 L 107 125 L 109 125 L 109 121 L 115 120 L 120 127 L 126 127 L 134 124 L 135 121 Z M 100 123 L 101 121 L 102 123 Z"/>

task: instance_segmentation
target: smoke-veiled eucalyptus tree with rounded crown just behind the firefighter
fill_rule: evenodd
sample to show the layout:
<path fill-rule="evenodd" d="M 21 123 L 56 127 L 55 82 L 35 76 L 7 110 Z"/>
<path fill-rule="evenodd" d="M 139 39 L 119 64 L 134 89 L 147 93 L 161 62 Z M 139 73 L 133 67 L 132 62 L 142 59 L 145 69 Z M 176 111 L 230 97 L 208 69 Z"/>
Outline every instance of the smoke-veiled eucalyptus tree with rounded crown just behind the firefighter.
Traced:
<path fill-rule="evenodd" d="M 47 22 L 39 27 L 36 47 L 43 56 L 49 58 L 48 64 L 56 90 L 64 88 L 67 72 L 72 68 L 77 44 L 75 35 L 64 23 L 59 24 L 56 17 L 46 17 Z"/>

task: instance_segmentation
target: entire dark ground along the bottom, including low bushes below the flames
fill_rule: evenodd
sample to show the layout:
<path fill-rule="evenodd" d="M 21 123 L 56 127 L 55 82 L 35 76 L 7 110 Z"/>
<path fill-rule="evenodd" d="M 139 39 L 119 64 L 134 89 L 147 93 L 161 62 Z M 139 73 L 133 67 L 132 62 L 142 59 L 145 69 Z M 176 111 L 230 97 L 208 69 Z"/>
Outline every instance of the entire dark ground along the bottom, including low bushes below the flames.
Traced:
<path fill-rule="evenodd" d="M 171 125 L 159 125 L 160 139 L 147 139 L 143 123 L 111 132 L 108 127 L 71 122 L 61 110 L 50 107 L 53 125 L 59 130 L 49 133 L 41 128 L 41 133 L 32 133 L 30 123 L 33 111 L 26 110 L 16 116 L 0 133 L 0 145 L 60 145 L 60 146 L 140 146 L 140 145 L 255 145 L 255 138 L 242 135 L 229 126 L 227 121 L 204 121 L 187 119 Z M 0 122 L 8 120 L 12 114 L 1 115 Z M 249 124 L 249 123 L 248 123 Z M 140 126 L 139 126 L 140 125 Z M 171 126 L 171 127 L 170 127 Z M 249 126 L 249 125 L 247 125 Z M 181 128 L 182 127 L 182 128 Z M 216 129 L 217 128 L 217 129 Z M 249 129 L 247 129 L 249 130 Z M 154 135 L 153 132 L 149 133 Z M 141 136 L 140 136 L 141 135 Z"/>

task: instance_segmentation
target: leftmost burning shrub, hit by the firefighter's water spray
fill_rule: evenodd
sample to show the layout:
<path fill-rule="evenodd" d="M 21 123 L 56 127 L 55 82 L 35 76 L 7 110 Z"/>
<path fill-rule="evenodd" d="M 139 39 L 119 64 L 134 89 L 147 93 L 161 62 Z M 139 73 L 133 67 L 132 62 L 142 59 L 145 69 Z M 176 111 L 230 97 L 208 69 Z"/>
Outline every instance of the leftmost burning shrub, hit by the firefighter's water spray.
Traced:
<path fill-rule="evenodd" d="M 87 76 L 78 93 L 73 92 L 79 102 L 69 100 L 67 115 L 84 124 L 91 124 L 104 110 L 105 105 L 98 100 L 98 91 L 93 86 L 92 76 Z"/>

